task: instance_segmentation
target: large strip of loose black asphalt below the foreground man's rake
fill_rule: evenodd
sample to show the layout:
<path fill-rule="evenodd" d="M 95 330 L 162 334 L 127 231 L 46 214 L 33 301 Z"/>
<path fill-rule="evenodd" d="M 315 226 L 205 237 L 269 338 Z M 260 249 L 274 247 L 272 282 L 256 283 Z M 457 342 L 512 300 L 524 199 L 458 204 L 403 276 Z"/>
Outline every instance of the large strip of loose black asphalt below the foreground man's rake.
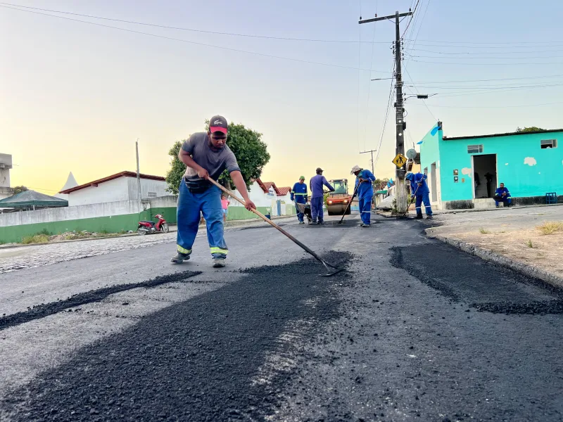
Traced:
<path fill-rule="evenodd" d="M 279 336 L 295 321 L 339 317 L 331 287 L 347 275 L 322 278 L 321 268 L 302 260 L 252 269 L 78 350 L 5 397 L 2 408 L 15 421 L 260 420 L 279 406 L 291 378 L 279 371 L 267 385 L 252 382 L 267 356 L 284 352 Z M 305 324 L 301 337 L 312 338 L 315 327 Z"/>

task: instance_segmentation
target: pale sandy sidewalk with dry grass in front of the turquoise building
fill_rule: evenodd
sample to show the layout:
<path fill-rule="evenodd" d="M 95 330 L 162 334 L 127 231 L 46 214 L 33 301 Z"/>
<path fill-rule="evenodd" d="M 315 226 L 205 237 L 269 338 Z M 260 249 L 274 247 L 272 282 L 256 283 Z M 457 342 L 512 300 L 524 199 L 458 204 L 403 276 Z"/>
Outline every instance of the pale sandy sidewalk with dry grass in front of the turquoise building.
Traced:
<path fill-rule="evenodd" d="M 426 222 L 426 220 L 424 220 Z M 560 223 L 548 224 L 545 223 Z M 545 234 L 552 230 L 551 234 Z M 563 207 L 443 212 L 427 236 L 563 287 Z"/>

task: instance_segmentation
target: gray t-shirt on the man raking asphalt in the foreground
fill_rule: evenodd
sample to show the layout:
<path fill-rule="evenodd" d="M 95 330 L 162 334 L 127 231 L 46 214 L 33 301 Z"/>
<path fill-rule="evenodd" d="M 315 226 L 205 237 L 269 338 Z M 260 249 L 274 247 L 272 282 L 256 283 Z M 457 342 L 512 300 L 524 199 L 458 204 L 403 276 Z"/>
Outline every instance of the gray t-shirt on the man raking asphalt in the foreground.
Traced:
<path fill-rule="evenodd" d="M 189 153 L 198 165 L 207 170 L 213 180 L 219 179 L 225 169 L 229 173 L 235 170 L 241 171 L 231 149 L 225 145 L 222 149 L 213 151 L 209 146 L 208 135 L 205 132 L 192 134 L 187 141 L 184 141 L 182 149 Z M 201 177 L 198 177 L 198 172 L 191 167 L 186 168 L 184 176 L 190 180 L 201 180 Z"/>

